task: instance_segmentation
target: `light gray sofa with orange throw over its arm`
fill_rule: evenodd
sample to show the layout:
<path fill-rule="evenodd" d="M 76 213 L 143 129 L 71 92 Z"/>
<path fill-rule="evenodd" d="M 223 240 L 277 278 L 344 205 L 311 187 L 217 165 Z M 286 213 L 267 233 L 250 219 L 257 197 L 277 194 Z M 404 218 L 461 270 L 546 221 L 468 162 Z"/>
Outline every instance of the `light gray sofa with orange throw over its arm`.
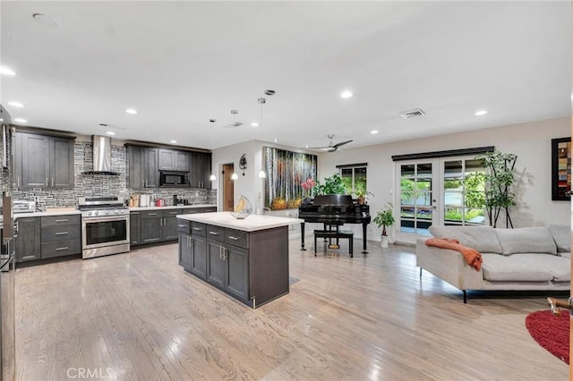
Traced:
<path fill-rule="evenodd" d="M 490 226 L 430 226 L 434 237 L 457 239 L 478 250 L 479 271 L 455 250 L 416 242 L 416 265 L 458 287 L 467 301 L 468 290 L 569 290 L 571 243 L 569 225 L 494 229 Z"/>

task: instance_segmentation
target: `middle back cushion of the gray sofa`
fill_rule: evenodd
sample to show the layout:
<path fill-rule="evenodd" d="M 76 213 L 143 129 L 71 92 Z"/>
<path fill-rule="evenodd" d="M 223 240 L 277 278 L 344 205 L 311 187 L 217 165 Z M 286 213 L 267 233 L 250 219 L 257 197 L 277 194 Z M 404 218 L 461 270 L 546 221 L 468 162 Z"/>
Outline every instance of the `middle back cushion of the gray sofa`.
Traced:
<path fill-rule="evenodd" d="M 545 226 L 495 229 L 503 255 L 547 253 L 557 255 L 557 246 Z"/>

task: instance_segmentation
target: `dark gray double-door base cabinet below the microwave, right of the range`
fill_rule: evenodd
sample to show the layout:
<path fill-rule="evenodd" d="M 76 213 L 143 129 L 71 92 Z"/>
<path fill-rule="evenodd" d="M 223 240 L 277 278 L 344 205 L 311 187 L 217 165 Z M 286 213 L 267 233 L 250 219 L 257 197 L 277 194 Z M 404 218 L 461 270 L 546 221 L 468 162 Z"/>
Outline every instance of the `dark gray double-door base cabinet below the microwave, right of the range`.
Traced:
<path fill-rule="evenodd" d="M 176 240 L 176 216 L 180 214 L 181 209 L 141 211 L 141 243 Z"/>

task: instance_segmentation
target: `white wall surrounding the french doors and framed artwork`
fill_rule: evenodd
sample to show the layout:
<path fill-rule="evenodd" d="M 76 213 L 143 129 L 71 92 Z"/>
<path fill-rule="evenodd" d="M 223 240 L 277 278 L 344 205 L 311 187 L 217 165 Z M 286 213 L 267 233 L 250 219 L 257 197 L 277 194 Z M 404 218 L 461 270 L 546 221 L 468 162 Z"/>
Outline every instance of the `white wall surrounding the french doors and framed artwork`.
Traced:
<path fill-rule="evenodd" d="M 319 179 L 337 172 L 336 165 L 368 163 L 368 189 L 375 195 L 368 201 L 373 216 L 388 201 L 397 205 L 392 194 L 396 178 L 393 155 L 495 146 L 501 152 L 517 155 L 517 206 L 510 210 L 514 226 L 570 224 L 569 201 L 552 201 L 551 188 L 551 140 L 569 136 L 570 118 L 564 117 L 346 149 L 319 157 Z M 396 228 L 394 225 L 392 230 Z M 378 230 L 370 224 L 368 238 L 379 239 Z M 359 230 L 355 232 L 361 235 Z"/>

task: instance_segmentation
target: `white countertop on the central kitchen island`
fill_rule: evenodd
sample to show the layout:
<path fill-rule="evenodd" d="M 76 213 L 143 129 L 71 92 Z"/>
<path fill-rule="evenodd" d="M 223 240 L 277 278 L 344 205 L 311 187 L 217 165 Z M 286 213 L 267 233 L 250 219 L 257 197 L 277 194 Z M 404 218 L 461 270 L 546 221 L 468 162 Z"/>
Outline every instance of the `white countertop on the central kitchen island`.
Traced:
<path fill-rule="evenodd" d="M 244 232 L 255 232 L 258 230 L 272 229 L 274 227 L 288 226 L 290 224 L 300 224 L 304 220 L 300 218 L 251 215 L 244 219 L 236 219 L 230 212 L 196 213 L 192 215 L 178 215 L 177 218 L 199 222 L 203 224 L 214 224 L 231 229 L 242 230 Z"/>

